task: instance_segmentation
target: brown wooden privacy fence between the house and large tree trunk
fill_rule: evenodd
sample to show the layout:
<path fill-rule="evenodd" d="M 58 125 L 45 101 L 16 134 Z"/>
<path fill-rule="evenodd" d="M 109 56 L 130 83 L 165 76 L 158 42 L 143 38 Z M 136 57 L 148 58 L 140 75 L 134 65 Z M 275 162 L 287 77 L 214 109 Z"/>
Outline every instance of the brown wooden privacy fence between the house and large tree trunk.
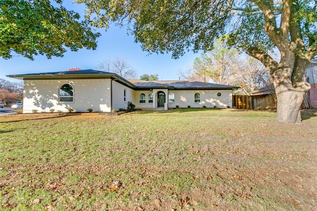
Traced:
<path fill-rule="evenodd" d="M 269 94 L 265 95 L 233 95 L 232 106 L 237 109 L 270 109 L 274 108 L 274 99 Z"/>

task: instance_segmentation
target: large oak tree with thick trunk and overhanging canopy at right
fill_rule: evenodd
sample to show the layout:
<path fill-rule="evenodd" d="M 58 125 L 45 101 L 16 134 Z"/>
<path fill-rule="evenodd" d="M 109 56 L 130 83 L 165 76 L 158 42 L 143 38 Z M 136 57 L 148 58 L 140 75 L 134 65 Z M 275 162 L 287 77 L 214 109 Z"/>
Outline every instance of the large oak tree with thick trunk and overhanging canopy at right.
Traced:
<path fill-rule="evenodd" d="M 305 69 L 317 54 L 316 0 L 77 0 L 87 5 L 92 24 L 127 24 L 149 52 L 211 50 L 215 38 L 231 33 L 230 43 L 260 60 L 273 79 L 277 120 L 300 123 L 303 94 L 310 84 Z M 268 51 L 276 47 L 280 59 Z"/>

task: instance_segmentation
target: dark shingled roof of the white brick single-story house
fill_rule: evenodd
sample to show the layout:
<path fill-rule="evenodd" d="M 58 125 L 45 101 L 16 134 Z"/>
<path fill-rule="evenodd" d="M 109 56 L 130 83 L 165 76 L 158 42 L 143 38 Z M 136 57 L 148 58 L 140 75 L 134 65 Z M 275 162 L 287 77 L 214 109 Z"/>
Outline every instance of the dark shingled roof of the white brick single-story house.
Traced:
<path fill-rule="evenodd" d="M 23 75 L 9 75 L 7 77 L 21 80 L 51 80 L 51 79 L 114 79 L 121 84 L 134 89 L 237 89 L 237 86 L 211 84 L 194 81 L 143 81 L 138 79 L 126 80 L 117 74 L 98 70 L 61 71 L 53 73 L 33 73 Z"/>

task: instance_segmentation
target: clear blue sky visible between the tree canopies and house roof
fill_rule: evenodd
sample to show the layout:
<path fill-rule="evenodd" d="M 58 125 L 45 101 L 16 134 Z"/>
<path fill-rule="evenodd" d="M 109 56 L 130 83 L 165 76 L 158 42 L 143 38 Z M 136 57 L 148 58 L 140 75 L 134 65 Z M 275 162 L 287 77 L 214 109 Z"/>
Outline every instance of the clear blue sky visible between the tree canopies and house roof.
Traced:
<path fill-rule="evenodd" d="M 78 12 L 83 17 L 85 6 L 83 4 L 72 4 L 71 0 L 64 0 L 63 5 L 67 9 Z M 0 58 L 0 78 L 19 82 L 5 77 L 6 75 L 57 72 L 70 68 L 95 69 L 98 70 L 98 62 L 107 58 L 124 57 L 129 65 L 133 67 L 138 76 L 143 74 L 159 74 L 159 80 L 178 80 L 179 70 L 193 64 L 195 57 L 200 54 L 187 52 L 179 59 L 171 58 L 171 54 L 148 54 L 142 51 L 140 43 L 134 42 L 134 37 L 127 35 L 124 28 L 110 26 L 107 32 L 99 29 L 102 34 L 98 38 L 97 50 L 80 49 L 76 52 L 68 50 L 63 57 L 47 59 L 46 56 L 35 56 L 34 61 L 23 56 L 14 55 L 13 58 L 4 60 Z"/>

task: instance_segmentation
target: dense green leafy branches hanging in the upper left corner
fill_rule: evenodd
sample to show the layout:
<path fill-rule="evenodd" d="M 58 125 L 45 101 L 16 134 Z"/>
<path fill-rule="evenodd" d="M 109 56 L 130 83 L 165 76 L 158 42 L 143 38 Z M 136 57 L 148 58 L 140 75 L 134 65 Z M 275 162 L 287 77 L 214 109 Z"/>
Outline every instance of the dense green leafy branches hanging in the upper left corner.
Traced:
<path fill-rule="evenodd" d="M 34 55 L 63 56 L 66 48 L 96 49 L 99 33 L 93 33 L 89 21 L 61 6 L 62 0 L 1 0 L 0 56 L 12 57 L 12 51 L 33 60 Z"/>

